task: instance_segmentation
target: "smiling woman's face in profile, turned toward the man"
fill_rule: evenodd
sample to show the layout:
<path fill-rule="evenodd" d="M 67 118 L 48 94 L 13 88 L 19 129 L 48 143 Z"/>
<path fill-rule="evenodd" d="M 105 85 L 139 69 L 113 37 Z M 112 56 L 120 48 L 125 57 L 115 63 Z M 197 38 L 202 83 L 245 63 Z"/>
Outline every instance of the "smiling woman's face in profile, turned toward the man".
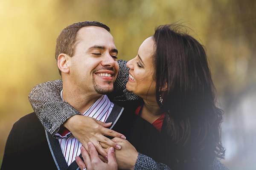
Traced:
<path fill-rule="evenodd" d="M 155 98 L 156 82 L 153 78 L 154 51 L 154 39 L 153 37 L 148 37 L 140 45 L 137 56 L 126 64 L 130 68 L 129 81 L 126 84 L 126 88 L 143 99 L 148 97 Z"/>

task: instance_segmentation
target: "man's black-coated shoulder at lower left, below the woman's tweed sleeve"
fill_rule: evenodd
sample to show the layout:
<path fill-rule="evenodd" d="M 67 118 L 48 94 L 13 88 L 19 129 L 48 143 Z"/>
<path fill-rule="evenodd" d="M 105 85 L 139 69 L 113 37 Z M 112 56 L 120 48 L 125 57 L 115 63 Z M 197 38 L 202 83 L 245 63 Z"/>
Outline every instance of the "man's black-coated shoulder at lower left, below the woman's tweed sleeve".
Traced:
<path fill-rule="evenodd" d="M 14 123 L 6 141 L 2 168 L 32 170 L 54 167 L 44 127 L 36 114 L 21 117 Z"/>

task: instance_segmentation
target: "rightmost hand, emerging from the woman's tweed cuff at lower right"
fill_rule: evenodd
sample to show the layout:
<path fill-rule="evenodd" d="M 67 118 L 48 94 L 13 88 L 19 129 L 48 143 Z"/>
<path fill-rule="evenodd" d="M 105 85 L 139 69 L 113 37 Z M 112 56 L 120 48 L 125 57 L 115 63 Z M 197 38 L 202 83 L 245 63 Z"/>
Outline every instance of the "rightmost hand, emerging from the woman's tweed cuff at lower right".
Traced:
<path fill-rule="evenodd" d="M 121 145 L 122 147 L 121 150 L 116 150 L 116 161 L 119 169 L 133 170 L 138 157 L 136 148 L 128 140 L 125 139 L 115 137 L 111 140 Z M 106 151 L 110 149 L 110 147 L 107 145 L 103 143 L 100 144 Z"/>

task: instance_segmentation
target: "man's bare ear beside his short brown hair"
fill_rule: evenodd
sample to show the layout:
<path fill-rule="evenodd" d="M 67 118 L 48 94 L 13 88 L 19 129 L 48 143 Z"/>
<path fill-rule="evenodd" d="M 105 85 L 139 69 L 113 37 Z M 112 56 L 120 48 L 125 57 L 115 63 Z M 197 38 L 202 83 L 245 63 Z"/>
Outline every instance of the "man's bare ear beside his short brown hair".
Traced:
<path fill-rule="evenodd" d="M 57 65 L 61 72 L 69 73 L 70 72 L 70 56 L 67 54 L 59 54 L 57 59 Z"/>

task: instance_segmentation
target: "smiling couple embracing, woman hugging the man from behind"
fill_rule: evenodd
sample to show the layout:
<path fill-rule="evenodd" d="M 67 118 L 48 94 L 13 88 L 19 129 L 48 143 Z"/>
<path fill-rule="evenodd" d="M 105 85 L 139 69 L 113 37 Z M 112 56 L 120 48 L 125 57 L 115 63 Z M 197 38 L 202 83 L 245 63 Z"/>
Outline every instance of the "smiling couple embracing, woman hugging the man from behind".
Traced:
<path fill-rule="evenodd" d="M 48 132 L 35 113 L 21 118 L 8 137 L 2 168 L 225 169 L 215 159 L 224 156 L 222 112 L 204 48 L 178 28 L 158 27 L 134 59 L 118 61 L 118 76 L 107 26 L 65 28 L 55 51 L 62 82 L 37 85 L 29 95 Z"/>

